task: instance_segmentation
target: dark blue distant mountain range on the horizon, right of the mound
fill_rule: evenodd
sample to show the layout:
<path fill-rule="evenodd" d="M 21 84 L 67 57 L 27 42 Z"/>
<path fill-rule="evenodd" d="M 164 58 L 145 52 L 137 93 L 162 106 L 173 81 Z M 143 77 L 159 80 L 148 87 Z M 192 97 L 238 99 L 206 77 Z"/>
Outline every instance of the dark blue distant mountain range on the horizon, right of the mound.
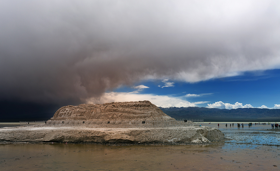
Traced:
<path fill-rule="evenodd" d="M 165 114 L 175 119 L 204 119 L 204 121 L 252 121 L 280 122 L 280 109 L 237 108 L 218 109 L 205 107 L 159 107 Z"/>

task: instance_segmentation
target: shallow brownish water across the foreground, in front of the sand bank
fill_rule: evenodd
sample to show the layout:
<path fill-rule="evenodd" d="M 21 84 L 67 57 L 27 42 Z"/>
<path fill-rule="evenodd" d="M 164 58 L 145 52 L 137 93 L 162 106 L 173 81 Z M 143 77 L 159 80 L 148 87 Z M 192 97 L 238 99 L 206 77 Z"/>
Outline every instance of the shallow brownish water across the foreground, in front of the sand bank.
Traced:
<path fill-rule="evenodd" d="M 275 146 L 0 144 L 0 170 L 279 170 Z M 275 165 L 275 166 L 273 166 Z"/>

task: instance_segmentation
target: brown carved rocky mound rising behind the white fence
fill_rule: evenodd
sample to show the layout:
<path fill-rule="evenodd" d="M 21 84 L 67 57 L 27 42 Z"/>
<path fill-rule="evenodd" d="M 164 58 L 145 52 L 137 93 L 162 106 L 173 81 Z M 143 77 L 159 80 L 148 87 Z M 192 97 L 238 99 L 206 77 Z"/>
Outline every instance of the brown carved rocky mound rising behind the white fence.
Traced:
<path fill-rule="evenodd" d="M 112 102 L 105 104 L 80 104 L 63 106 L 55 112 L 51 120 L 91 120 L 91 119 L 127 119 L 127 120 L 171 120 L 156 105 L 149 101 Z"/>

